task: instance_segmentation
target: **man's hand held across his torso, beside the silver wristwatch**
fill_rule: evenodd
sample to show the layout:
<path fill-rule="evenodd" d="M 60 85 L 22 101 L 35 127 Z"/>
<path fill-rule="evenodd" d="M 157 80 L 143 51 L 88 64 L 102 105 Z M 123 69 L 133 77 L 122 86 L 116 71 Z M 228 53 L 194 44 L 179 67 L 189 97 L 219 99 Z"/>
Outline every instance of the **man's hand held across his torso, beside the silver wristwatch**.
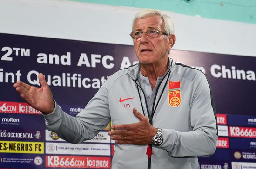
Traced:
<path fill-rule="evenodd" d="M 113 125 L 111 129 L 115 131 L 109 131 L 112 140 L 115 140 L 116 144 L 135 144 L 135 145 L 147 145 L 152 143 L 152 138 L 155 136 L 157 129 L 153 127 L 146 116 L 143 116 L 140 112 L 133 108 L 134 115 L 140 120 L 138 123 Z"/>

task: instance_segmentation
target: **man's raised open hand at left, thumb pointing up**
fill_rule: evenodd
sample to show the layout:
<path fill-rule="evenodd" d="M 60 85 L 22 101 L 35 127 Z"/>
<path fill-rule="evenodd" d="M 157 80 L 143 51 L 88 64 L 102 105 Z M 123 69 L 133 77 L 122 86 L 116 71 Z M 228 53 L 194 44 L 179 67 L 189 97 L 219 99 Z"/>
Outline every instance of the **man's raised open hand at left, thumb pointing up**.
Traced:
<path fill-rule="evenodd" d="M 42 73 L 38 75 L 41 88 L 30 86 L 21 81 L 14 83 L 13 87 L 20 93 L 27 103 L 44 114 L 49 114 L 54 110 L 53 94 L 47 85 Z"/>

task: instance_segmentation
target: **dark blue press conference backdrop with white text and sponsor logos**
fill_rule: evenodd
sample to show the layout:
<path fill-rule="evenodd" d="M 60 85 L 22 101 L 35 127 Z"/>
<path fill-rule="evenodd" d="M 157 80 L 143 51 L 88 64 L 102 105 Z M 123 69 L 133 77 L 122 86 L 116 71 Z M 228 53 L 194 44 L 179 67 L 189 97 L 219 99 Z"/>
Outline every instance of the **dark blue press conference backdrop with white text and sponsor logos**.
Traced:
<path fill-rule="evenodd" d="M 108 76 L 137 63 L 133 46 L 4 33 L 0 39 L 0 168 L 109 169 L 115 149 L 111 124 L 92 140 L 67 143 L 46 130 L 40 112 L 20 98 L 13 83 L 40 87 L 37 76 L 43 72 L 54 99 L 75 116 Z M 217 148 L 199 157 L 199 168 L 255 168 L 256 57 L 185 50 L 171 50 L 170 57 L 203 71 L 215 99 Z"/>

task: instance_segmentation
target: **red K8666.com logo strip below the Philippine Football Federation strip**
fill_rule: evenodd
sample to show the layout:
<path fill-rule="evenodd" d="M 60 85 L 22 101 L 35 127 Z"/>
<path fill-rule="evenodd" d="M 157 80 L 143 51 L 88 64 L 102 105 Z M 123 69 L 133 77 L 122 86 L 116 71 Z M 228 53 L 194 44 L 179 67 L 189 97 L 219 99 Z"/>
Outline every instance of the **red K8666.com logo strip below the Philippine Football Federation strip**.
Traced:
<path fill-rule="evenodd" d="M 110 169 L 110 157 L 46 156 L 46 167 Z"/>

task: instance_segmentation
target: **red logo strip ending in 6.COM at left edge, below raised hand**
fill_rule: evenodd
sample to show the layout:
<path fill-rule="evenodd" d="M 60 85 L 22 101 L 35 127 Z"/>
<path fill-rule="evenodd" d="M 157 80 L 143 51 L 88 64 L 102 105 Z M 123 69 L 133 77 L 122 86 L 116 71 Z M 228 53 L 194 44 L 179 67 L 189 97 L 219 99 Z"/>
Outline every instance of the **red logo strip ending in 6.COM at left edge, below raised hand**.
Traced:
<path fill-rule="evenodd" d="M 40 111 L 29 106 L 27 103 L 0 101 L 0 112 L 20 114 L 41 114 Z"/>

